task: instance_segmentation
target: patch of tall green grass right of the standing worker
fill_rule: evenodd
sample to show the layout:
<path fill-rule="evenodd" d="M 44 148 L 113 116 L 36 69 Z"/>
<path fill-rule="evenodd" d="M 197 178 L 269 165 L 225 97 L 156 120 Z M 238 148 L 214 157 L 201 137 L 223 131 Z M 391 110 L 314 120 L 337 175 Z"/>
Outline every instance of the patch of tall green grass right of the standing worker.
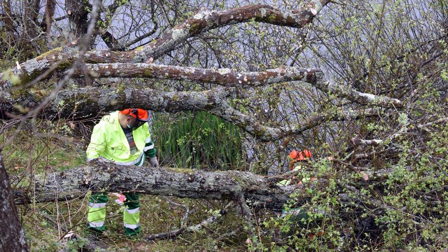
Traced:
<path fill-rule="evenodd" d="M 204 111 L 154 118 L 152 138 L 162 165 L 233 170 L 244 163 L 237 126 Z"/>

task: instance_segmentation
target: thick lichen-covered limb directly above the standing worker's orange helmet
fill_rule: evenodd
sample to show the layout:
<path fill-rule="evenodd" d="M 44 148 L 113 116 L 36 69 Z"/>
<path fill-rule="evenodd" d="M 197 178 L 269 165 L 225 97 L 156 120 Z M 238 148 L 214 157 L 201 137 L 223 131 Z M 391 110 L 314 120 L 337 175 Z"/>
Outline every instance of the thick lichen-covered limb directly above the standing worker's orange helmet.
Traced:
<path fill-rule="evenodd" d="M 2 90 L 0 90 L 2 92 Z M 21 113 L 37 107 L 49 91 L 23 92 L 3 91 L 0 96 L 0 115 Z M 230 94 L 227 88 L 216 88 L 202 92 L 163 92 L 153 89 L 136 89 L 118 86 L 87 87 L 61 90 L 57 97 L 42 110 L 47 118 L 87 118 L 101 111 L 141 107 L 154 111 L 210 110 Z M 17 107 L 15 104 L 20 104 Z M 19 109 L 20 108 L 20 109 Z"/>

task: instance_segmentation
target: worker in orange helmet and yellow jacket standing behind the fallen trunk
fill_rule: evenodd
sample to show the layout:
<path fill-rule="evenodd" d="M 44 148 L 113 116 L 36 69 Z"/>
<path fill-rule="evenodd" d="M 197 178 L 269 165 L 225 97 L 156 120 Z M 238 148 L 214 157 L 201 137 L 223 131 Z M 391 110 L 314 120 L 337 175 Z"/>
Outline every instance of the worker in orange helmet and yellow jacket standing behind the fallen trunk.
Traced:
<path fill-rule="evenodd" d="M 129 108 L 115 111 L 104 116 L 95 125 L 87 147 L 87 161 L 98 158 L 100 161 L 114 162 L 121 165 L 143 166 L 145 157 L 150 164 L 158 166 L 156 149 L 151 140 L 148 122 L 150 113 L 141 108 Z M 139 193 L 123 193 L 124 201 L 123 227 L 128 236 L 140 232 Z M 106 219 L 106 193 L 92 193 L 88 206 L 88 228 L 94 232 L 104 231 Z"/>

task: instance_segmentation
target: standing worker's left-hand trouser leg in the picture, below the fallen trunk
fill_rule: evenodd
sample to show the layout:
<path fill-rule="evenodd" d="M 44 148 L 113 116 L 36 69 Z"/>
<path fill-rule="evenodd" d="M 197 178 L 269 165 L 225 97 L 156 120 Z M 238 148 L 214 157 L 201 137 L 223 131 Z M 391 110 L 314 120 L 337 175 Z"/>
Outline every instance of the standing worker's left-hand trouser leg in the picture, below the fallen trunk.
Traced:
<path fill-rule="evenodd" d="M 97 232 L 104 231 L 107 201 L 108 199 L 106 193 L 93 193 L 90 196 L 89 205 L 87 207 L 89 229 Z"/>

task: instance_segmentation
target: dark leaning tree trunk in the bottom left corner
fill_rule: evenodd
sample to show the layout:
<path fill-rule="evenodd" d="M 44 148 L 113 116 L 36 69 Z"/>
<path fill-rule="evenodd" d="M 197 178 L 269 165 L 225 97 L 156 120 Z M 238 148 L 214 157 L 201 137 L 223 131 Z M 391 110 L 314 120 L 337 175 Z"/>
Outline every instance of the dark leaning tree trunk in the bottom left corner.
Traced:
<path fill-rule="evenodd" d="M 11 193 L 9 177 L 0 151 L 0 251 L 30 251 L 26 244 L 25 233 L 20 225 L 16 205 Z"/>

